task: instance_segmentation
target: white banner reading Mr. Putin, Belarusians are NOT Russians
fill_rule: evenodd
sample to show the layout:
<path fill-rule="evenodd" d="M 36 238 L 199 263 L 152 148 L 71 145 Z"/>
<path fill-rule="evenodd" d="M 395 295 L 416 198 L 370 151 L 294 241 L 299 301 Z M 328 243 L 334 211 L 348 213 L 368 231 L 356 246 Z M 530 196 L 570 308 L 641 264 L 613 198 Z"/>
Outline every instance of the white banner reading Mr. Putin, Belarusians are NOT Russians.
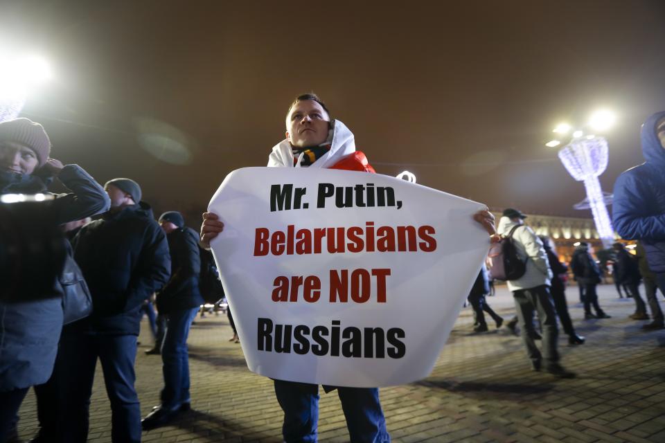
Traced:
<path fill-rule="evenodd" d="M 380 387 L 432 371 L 488 252 L 485 206 L 381 174 L 242 168 L 211 242 L 249 370 Z"/>

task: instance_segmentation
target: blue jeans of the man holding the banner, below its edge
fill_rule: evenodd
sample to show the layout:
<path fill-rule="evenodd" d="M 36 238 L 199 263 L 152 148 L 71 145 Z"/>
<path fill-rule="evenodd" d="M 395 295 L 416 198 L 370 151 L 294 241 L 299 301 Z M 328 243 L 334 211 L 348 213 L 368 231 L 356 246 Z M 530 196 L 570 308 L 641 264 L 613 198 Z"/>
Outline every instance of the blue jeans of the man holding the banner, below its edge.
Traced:
<path fill-rule="evenodd" d="M 284 411 L 285 442 L 316 442 L 319 421 L 319 386 L 274 380 L 275 395 Z M 390 442 L 378 388 L 337 388 L 352 443 Z"/>

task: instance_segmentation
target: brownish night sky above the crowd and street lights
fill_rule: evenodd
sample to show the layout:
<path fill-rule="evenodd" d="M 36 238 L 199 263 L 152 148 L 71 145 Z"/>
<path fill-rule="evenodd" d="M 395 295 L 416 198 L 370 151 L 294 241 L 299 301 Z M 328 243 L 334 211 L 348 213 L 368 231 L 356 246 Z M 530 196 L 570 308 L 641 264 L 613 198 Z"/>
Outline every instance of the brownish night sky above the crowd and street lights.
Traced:
<path fill-rule="evenodd" d="M 603 190 L 644 161 L 639 126 L 665 109 L 665 1 L 432 3 L 3 1 L 0 51 L 53 64 L 22 114 L 53 156 L 139 181 L 158 213 L 200 213 L 231 170 L 265 165 L 291 100 L 314 91 L 382 174 L 590 217 L 544 143 L 607 107 Z"/>

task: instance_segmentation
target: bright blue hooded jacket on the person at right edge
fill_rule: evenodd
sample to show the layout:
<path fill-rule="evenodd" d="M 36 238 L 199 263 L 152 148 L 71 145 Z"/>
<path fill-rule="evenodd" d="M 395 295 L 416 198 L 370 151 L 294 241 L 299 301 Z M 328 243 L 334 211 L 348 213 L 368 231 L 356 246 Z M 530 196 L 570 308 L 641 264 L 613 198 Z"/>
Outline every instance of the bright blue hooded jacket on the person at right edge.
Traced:
<path fill-rule="evenodd" d="M 647 118 L 641 129 L 645 163 L 622 172 L 614 183 L 612 218 L 624 239 L 640 239 L 651 271 L 665 273 L 665 148 L 656 124 L 665 111 Z"/>

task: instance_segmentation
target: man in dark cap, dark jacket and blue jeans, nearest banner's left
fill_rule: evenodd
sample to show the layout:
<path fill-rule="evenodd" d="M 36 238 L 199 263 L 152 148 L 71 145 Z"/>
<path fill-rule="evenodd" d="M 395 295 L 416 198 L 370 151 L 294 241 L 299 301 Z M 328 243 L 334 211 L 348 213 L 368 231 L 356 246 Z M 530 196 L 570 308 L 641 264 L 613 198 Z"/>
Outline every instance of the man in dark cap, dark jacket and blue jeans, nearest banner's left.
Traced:
<path fill-rule="evenodd" d="M 185 226 L 182 215 L 168 211 L 159 217 L 159 226 L 166 233 L 171 255 L 171 278 L 157 292 L 157 310 L 166 316 L 166 334 L 161 345 L 164 388 L 161 403 L 142 422 L 152 429 L 171 422 L 190 409 L 189 360 L 187 337 L 203 297 L 199 291 L 198 233 Z"/>

